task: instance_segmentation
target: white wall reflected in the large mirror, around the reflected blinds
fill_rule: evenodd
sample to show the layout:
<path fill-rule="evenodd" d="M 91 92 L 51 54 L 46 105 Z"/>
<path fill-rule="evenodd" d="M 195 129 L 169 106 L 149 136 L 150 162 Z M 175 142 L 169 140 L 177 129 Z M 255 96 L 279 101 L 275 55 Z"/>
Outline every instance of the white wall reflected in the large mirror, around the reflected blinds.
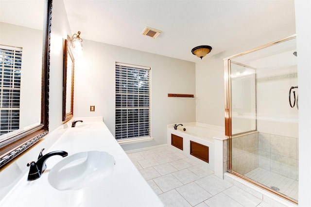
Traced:
<path fill-rule="evenodd" d="M 22 48 L 19 127 L 40 123 L 43 31 L 3 22 L 0 28 L 0 44 Z"/>

